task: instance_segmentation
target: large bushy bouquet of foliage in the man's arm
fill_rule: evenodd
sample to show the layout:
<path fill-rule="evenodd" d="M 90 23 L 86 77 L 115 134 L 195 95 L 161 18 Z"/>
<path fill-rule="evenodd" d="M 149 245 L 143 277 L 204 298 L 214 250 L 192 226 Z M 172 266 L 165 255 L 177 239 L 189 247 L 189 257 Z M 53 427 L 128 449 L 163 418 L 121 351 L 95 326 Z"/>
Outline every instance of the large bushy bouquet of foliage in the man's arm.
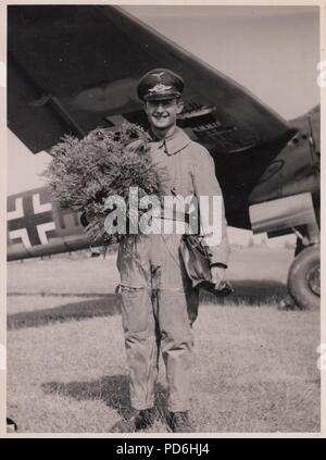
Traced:
<path fill-rule="evenodd" d="M 120 236 L 104 231 L 105 199 L 117 195 L 128 206 L 130 187 L 139 198 L 160 192 L 160 177 L 148 148 L 147 134 L 137 125 L 124 124 L 118 133 L 91 130 L 83 139 L 64 136 L 51 149 L 52 161 L 45 171 L 52 202 L 84 215 L 91 243 L 113 244 Z"/>

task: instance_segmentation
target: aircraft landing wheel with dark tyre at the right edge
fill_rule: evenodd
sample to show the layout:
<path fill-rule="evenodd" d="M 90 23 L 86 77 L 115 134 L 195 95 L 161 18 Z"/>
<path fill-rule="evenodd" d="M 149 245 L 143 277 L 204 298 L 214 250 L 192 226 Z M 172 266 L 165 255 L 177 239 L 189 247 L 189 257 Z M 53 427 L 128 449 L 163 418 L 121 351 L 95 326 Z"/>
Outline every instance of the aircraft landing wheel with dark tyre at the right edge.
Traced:
<path fill-rule="evenodd" d="M 288 274 L 288 289 L 301 309 L 316 310 L 321 302 L 321 247 L 311 246 L 293 260 Z"/>

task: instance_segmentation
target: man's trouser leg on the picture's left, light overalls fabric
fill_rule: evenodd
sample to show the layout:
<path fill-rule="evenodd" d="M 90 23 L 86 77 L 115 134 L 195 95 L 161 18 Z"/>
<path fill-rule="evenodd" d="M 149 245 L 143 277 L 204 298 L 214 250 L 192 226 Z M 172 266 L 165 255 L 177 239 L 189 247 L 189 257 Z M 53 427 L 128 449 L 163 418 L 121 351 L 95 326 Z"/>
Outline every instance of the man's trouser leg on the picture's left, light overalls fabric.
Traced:
<path fill-rule="evenodd" d="M 122 320 L 129 366 L 130 403 L 137 410 L 153 407 L 158 377 L 148 246 L 148 238 L 128 237 L 120 244 L 117 258 L 123 286 Z"/>

